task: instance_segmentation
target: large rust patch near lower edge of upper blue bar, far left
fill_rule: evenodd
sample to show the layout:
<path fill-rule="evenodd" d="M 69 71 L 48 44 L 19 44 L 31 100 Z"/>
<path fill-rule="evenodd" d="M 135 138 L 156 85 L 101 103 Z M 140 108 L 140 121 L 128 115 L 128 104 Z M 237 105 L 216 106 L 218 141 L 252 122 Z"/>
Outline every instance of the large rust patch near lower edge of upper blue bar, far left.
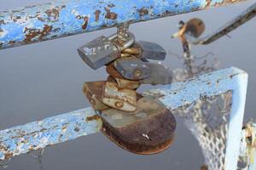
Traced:
<path fill-rule="evenodd" d="M 44 25 L 43 31 L 39 29 L 29 29 L 25 28 L 24 33 L 26 33 L 26 38 L 24 42 L 32 42 L 32 39 L 37 37 L 39 41 L 41 41 L 45 36 L 49 34 L 49 32 L 52 31 L 53 26 Z"/>

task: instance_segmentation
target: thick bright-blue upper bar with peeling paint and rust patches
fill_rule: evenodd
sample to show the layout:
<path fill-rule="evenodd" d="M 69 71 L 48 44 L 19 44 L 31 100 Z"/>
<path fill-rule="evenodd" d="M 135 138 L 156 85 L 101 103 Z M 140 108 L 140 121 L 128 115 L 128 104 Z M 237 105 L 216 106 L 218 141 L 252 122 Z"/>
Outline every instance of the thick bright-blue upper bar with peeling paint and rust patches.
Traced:
<path fill-rule="evenodd" d="M 0 49 L 245 0 L 66 0 L 0 11 Z"/>

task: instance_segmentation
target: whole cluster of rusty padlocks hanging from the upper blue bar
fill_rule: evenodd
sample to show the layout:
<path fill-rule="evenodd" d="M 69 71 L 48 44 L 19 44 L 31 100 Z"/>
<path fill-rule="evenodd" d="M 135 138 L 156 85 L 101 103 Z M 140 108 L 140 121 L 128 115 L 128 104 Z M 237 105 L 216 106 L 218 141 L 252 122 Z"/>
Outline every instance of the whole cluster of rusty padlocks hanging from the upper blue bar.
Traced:
<path fill-rule="evenodd" d="M 137 94 L 141 84 L 170 84 L 172 73 L 148 59 L 164 60 L 166 51 L 154 42 L 136 42 L 129 25 L 78 49 L 96 70 L 106 65 L 107 81 L 85 82 L 84 94 L 102 117 L 102 132 L 125 150 L 154 154 L 172 144 L 176 121 L 158 99 Z"/>

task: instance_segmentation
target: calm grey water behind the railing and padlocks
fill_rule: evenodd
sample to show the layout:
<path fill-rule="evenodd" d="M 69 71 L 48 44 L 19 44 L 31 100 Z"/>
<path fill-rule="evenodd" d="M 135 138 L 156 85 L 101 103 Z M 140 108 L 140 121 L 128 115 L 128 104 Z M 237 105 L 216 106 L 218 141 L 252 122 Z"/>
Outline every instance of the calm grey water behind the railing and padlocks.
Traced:
<path fill-rule="evenodd" d="M 46 0 L 1 0 L 0 10 L 16 8 Z M 208 9 L 165 19 L 151 20 L 131 26 L 138 40 L 159 42 L 167 51 L 182 54 L 180 42 L 171 39 L 179 20 L 199 17 L 205 21 L 207 33 L 216 30 L 255 1 L 224 8 Z M 76 48 L 115 29 L 90 32 L 73 37 L 40 42 L 0 51 L 0 129 L 55 116 L 89 106 L 81 92 L 83 82 L 104 80 L 104 69 L 91 70 L 84 65 Z M 249 74 L 246 118 L 255 119 L 256 95 L 256 18 L 207 46 L 193 46 L 193 54 L 212 52 L 218 56 L 220 68 L 236 66 Z M 165 65 L 175 69 L 182 63 L 167 56 Z M 141 90 L 150 87 L 141 88 Z M 201 149 L 177 118 L 177 139 L 172 148 L 154 156 L 137 156 L 96 133 L 44 150 L 44 170 L 198 170 L 204 162 Z M 31 156 L 16 156 L 7 170 L 37 170 L 38 161 Z"/>

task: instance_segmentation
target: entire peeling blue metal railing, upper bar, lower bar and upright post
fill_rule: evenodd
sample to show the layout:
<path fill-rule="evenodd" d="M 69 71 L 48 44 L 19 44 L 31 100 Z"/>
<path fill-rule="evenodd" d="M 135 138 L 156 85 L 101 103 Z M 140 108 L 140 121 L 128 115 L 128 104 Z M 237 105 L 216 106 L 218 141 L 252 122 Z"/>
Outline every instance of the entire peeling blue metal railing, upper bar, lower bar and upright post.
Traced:
<path fill-rule="evenodd" d="M 0 49 L 97 31 L 125 22 L 154 20 L 241 1 L 67 0 L 5 10 L 0 11 Z M 225 170 L 235 170 L 241 147 L 241 133 L 238 132 L 241 132 L 242 128 L 247 92 L 245 71 L 236 68 L 214 71 L 144 94 L 154 95 L 167 107 L 176 109 L 230 90 L 233 92 L 233 102 L 227 134 Z M 95 111 L 85 108 L 2 130 L 0 160 L 97 133 L 101 127 L 102 121 Z M 250 170 L 255 168 L 255 164 L 253 162 L 250 165 Z"/>

